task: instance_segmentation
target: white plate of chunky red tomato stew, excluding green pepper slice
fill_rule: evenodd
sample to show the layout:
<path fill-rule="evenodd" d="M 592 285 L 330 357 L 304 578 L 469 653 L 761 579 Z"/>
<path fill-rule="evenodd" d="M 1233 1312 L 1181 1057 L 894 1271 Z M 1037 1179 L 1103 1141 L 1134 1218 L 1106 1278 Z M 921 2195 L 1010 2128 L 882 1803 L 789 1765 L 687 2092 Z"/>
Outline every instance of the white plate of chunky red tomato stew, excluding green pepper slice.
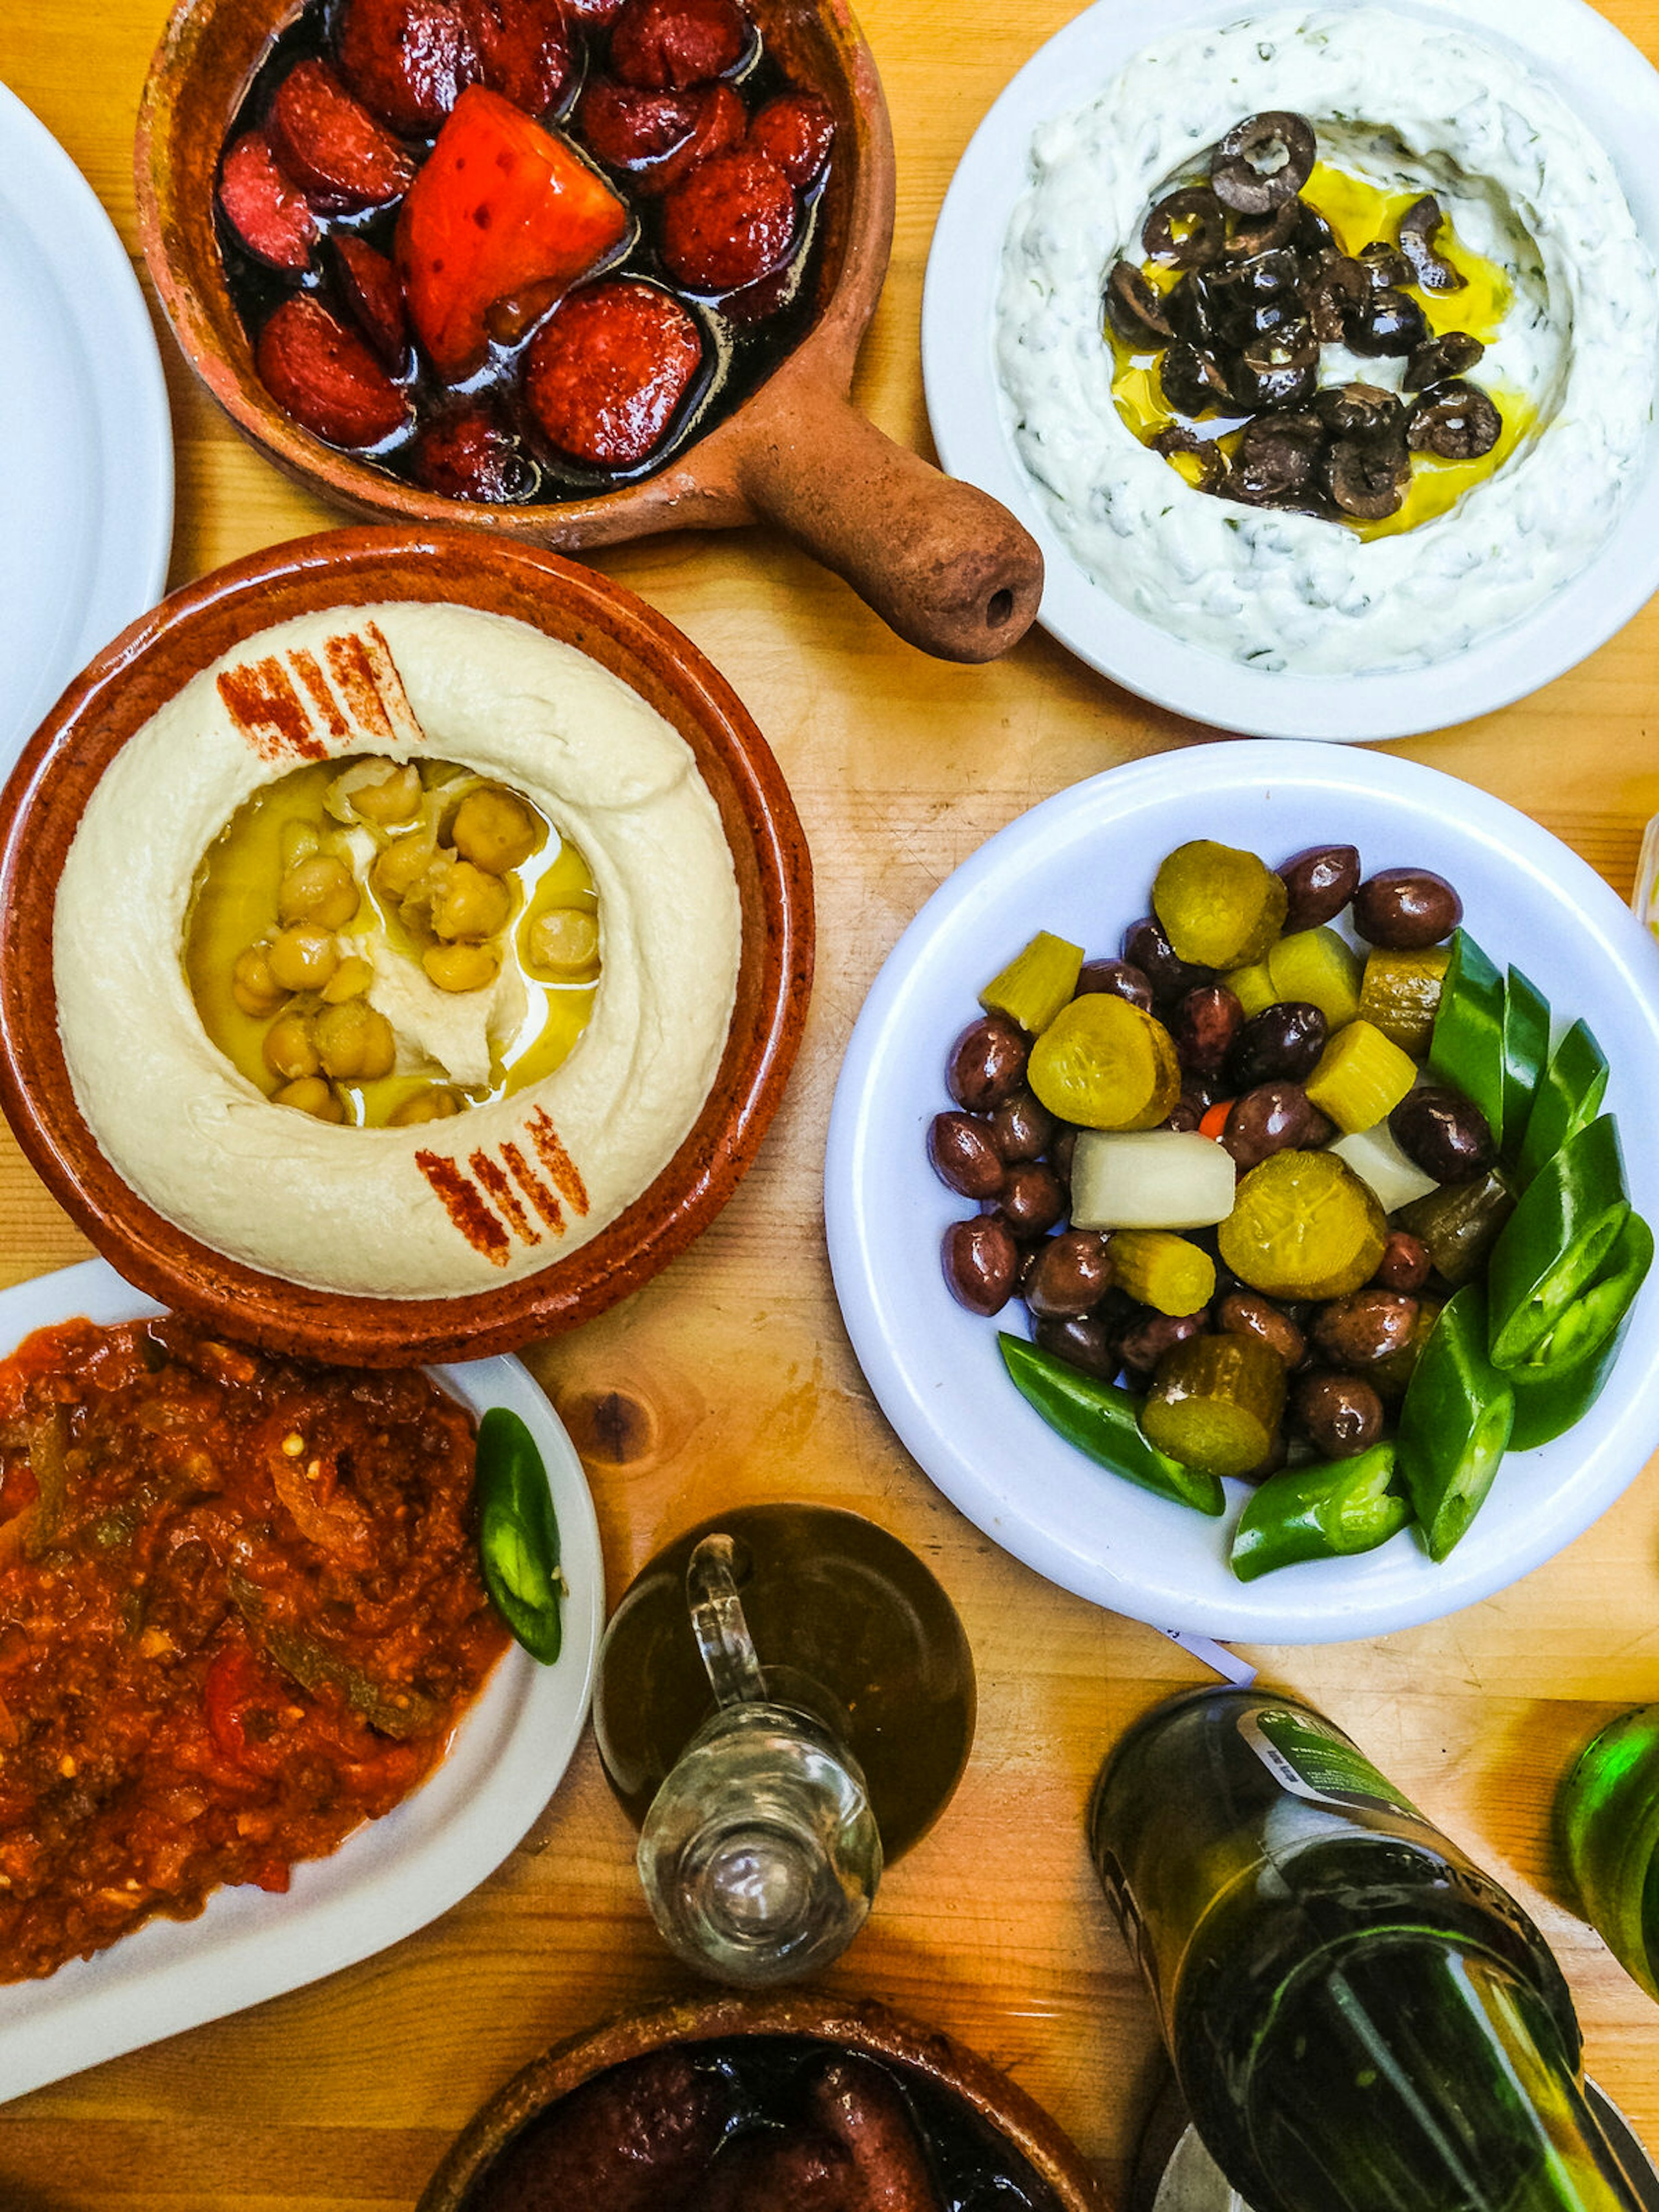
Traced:
<path fill-rule="evenodd" d="M 0 2097 L 385 1949 L 522 1838 L 604 1613 L 582 1462 L 511 1358 L 268 1360 L 91 1261 L 0 1292 Z M 568 1582 L 551 1666 L 476 1557 L 509 1407 Z"/>

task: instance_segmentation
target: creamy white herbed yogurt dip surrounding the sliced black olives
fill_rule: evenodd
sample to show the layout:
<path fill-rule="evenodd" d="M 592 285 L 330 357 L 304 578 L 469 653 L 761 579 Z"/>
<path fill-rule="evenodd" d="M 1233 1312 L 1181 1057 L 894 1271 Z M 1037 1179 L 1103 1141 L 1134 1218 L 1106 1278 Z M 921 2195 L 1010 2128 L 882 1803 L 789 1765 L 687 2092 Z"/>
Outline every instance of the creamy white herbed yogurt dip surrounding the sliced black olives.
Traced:
<path fill-rule="evenodd" d="M 1363 540 L 1210 498 L 1141 445 L 1102 332 L 1113 263 L 1245 115 L 1290 108 L 1321 159 L 1433 192 L 1511 285 L 1478 380 L 1528 422 L 1447 513 Z M 1360 7 L 1183 31 L 1037 131 L 1002 257 L 998 365 L 1024 467 L 1077 564 L 1159 628 L 1270 672 L 1416 668 L 1528 615 L 1597 551 L 1644 458 L 1655 268 L 1613 164 L 1500 46 Z M 1398 363 L 1327 347 L 1325 383 Z"/>

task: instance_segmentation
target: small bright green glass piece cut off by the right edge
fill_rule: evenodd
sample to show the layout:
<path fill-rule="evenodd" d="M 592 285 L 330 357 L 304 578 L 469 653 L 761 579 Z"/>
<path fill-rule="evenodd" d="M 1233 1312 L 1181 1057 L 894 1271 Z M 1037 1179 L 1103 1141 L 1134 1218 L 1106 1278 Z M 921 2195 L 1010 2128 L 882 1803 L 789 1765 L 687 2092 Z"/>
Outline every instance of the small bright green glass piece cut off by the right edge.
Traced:
<path fill-rule="evenodd" d="M 1659 1997 L 1659 1705 L 1619 1714 L 1586 1743 L 1557 1812 L 1586 1916 Z"/>

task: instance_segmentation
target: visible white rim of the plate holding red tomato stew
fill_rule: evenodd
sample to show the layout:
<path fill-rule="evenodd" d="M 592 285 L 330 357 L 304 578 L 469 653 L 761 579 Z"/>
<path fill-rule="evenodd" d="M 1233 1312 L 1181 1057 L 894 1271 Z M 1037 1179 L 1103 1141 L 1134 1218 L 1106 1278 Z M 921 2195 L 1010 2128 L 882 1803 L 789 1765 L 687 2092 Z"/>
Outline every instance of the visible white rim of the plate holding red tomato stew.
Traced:
<path fill-rule="evenodd" d="M 0 1292 L 0 1352 L 49 1321 L 159 1312 L 102 1259 L 86 1261 Z M 535 1436 L 571 1584 L 560 1657 L 538 1666 L 513 1646 L 420 1790 L 332 1858 L 294 1867 L 285 1896 L 217 1889 L 199 1920 L 150 1920 L 44 1982 L 0 1989 L 0 2099 L 385 1951 L 476 1889 L 551 1798 L 586 1721 L 604 1626 L 599 1528 L 582 1460 L 518 1360 L 429 1371 L 473 1413 L 511 1407 Z"/>

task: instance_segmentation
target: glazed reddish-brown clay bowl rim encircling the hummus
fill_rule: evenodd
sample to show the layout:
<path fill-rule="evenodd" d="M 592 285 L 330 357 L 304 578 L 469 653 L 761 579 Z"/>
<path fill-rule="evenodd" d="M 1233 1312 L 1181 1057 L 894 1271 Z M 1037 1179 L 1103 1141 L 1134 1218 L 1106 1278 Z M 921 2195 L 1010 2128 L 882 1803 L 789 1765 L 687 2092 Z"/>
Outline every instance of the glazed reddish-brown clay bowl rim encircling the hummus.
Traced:
<path fill-rule="evenodd" d="M 650 1188 L 591 1243 L 500 1290 L 372 1298 L 307 1290 L 215 1252 L 100 1152 L 58 1035 L 53 907 L 100 776 L 192 675 L 292 615 L 431 599 L 511 615 L 591 655 L 697 757 L 737 869 L 743 942 L 714 1086 Z M 330 531 L 173 593 L 64 692 L 0 794 L 0 1108 L 46 1188 L 150 1296 L 265 1352 L 365 1367 L 482 1358 L 604 1312 L 721 1210 L 776 1110 L 812 987 L 812 863 L 787 785 L 726 679 L 619 584 L 476 531 Z"/>

